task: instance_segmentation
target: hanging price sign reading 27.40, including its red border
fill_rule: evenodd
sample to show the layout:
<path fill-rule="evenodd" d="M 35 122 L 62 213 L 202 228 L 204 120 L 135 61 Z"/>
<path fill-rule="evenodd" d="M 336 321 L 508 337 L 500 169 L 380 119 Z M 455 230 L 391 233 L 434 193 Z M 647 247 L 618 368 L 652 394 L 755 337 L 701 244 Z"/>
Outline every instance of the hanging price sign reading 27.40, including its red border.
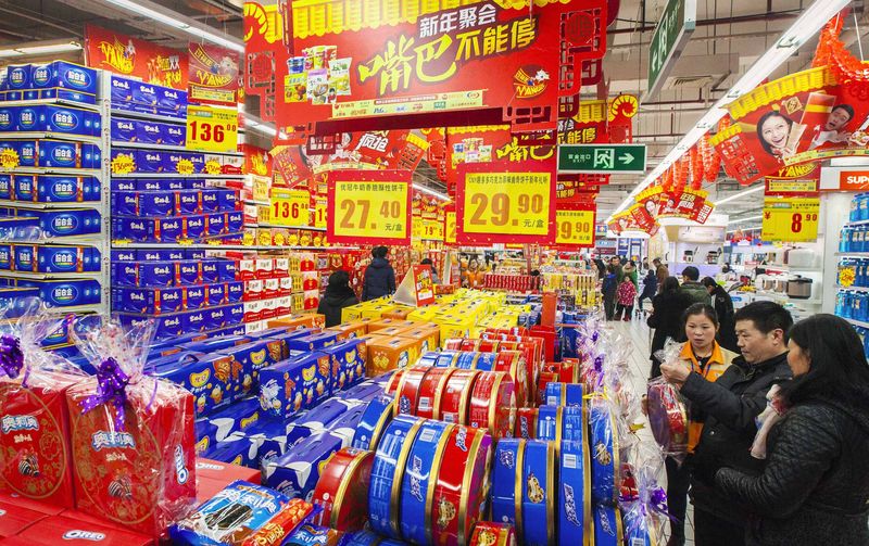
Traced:
<path fill-rule="evenodd" d="M 329 241 L 410 244 L 410 170 L 336 170 L 329 176 Z"/>

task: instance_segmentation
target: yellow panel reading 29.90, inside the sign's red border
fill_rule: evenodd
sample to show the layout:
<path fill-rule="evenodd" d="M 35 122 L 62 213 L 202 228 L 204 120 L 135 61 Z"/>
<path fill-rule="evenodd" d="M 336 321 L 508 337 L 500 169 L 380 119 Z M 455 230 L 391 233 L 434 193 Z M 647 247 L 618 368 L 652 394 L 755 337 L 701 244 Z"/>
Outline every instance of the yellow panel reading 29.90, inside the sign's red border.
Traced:
<path fill-rule="evenodd" d="M 468 173 L 463 231 L 546 237 L 551 178 L 549 173 Z"/>

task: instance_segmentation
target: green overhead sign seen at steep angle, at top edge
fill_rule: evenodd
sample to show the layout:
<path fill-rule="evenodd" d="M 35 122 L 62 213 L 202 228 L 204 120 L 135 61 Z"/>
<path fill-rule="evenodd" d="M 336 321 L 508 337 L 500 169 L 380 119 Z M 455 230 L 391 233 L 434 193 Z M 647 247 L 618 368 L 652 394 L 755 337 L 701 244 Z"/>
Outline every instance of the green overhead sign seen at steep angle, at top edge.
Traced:
<path fill-rule="evenodd" d="M 648 46 L 648 90 L 643 101 L 657 94 L 667 79 L 697 20 L 696 0 L 669 0 Z"/>

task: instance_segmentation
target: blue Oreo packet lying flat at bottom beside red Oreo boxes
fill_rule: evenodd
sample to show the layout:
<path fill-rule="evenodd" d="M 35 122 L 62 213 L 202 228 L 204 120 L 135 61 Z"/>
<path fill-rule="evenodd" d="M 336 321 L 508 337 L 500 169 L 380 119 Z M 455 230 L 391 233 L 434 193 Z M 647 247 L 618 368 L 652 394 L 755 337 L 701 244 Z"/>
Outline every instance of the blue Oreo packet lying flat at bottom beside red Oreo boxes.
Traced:
<path fill-rule="evenodd" d="M 185 546 L 247 544 L 290 503 L 278 492 L 236 481 L 172 525 L 169 536 L 173 544 Z"/>

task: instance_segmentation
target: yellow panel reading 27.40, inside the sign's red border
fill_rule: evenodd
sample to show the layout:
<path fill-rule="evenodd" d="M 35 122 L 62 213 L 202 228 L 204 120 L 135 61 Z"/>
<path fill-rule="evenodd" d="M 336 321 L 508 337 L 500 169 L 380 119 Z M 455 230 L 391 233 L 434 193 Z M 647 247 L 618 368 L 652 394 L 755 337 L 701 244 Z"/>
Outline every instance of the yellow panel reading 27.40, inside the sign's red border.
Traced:
<path fill-rule="evenodd" d="M 360 242 L 408 240 L 408 186 L 389 181 L 336 181 L 327 218 L 330 232 L 339 240 Z"/>

